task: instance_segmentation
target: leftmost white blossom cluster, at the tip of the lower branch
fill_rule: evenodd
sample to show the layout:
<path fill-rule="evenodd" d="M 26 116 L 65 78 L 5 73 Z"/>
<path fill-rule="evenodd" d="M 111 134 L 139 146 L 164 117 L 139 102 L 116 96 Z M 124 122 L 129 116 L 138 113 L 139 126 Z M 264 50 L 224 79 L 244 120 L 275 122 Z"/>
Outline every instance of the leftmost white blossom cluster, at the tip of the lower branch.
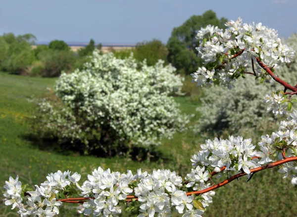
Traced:
<path fill-rule="evenodd" d="M 58 207 L 62 202 L 57 201 L 57 195 L 60 192 L 67 193 L 67 189 L 74 187 L 80 180 L 81 175 L 77 172 L 70 175 L 69 171 L 50 173 L 47 181 L 41 186 L 35 185 L 35 191 L 29 190 L 16 179 L 9 177 L 9 181 L 5 182 L 4 203 L 6 206 L 12 205 L 12 209 L 18 208 L 18 214 L 21 217 L 27 216 L 45 216 L 53 217 L 59 214 Z M 24 203 L 26 201 L 26 203 Z"/>

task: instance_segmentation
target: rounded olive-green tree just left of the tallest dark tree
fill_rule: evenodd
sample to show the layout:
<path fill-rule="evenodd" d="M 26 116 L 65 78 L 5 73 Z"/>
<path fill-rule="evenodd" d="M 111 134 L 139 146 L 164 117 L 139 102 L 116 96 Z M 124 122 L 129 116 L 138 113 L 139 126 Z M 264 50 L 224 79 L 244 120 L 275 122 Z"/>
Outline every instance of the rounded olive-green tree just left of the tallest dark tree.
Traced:
<path fill-rule="evenodd" d="M 147 59 L 148 65 L 155 65 L 158 59 L 167 62 L 168 50 L 160 40 L 153 39 L 149 42 L 137 43 L 134 56 L 137 60 Z"/>

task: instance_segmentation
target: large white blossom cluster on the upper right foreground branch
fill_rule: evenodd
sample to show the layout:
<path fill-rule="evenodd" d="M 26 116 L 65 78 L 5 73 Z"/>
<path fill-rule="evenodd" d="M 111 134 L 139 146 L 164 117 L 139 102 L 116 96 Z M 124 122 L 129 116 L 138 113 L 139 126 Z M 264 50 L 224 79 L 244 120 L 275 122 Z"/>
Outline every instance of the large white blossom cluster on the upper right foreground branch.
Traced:
<path fill-rule="evenodd" d="M 197 85 L 217 82 L 231 89 L 232 82 L 251 69 L 251 59 L 256 61 L 257 57 L 267 67 L 277 69 L 290 62 L 295 54 L 292 48 L 282 44 L 276 30 L 261 23 L 243 24 L 239 17 L 226 26 L 225 31 L 210 25 L 198 31 L 197 51 L 204 65 L 192 74 Z M 252 67 L 255 76 L 266 78 L 266 72 L 258 64 Z"/>

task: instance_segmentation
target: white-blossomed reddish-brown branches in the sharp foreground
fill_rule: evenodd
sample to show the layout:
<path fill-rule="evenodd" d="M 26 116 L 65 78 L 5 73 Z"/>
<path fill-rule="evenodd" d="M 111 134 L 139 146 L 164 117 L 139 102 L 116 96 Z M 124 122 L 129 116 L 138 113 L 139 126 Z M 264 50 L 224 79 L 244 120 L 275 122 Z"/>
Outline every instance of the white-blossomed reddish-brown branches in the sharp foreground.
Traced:
<path fill-rule="evenodd" d="M 5 205 L 18 208 L 21 216 L 55 216 L 62 203 L 81 203 L 79 213 L 107 217 L 120 214 L 121 203 L 129 203 L 128 209 L 133 209 L 135 202 L 141 204 L 139 217 L 167 217 L 171 208 L 183 217 L 200 217 L 212 202 L 213 190 L 242 176 L 250 179 L 256 172 L 279 166 L 285 177 L 292 173 L 291 182 L 297 185 L 297 110 L 292 111 L 297 87 L 274 73 L 279 65 L 290 62 L 294 51 L 281 43 L 274 29 L 261 23 L 242 24 L 239 18 L 226 25 L 225 31 L 207 26 L 198 32 L 197 50 L 204 66 L 193 77 L 198 85 L 221 84 L 231 89 L 237 79 L 250 74 L 284 86 L 284 91 L 267 94 L 265 103 L 274 114 L 287 115 L 287 121 L 281 122 L 277 132 L 262 136 L 258 150 L 251 139 L 242 137 L 206 140 L 191 159 L 195 167 L 184 179 L 164 169 L 151 174 L 139 169 L 133 174 L 99 167 L 82 185 L 77 172 L 57 171 L 33 191 L 22 186 L 18 177 L 10 177 L 4 186 Z M 212 176 L 223 174 L 227 174 L 224 181 L 212 182 Z M 81 197 L 70 198 L 72 194 Z"/>

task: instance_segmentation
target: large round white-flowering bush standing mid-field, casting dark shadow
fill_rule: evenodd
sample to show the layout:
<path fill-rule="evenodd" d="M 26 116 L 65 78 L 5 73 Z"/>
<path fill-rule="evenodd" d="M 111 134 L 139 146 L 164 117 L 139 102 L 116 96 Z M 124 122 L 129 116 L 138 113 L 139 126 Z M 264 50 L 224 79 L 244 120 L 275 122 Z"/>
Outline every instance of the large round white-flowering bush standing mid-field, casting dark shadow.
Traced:
<path fill-rule="evenodd" d="M 163 63 L 143 62 L 137 69 L 132 56 L 118 59 L 95 51 L 83 70 L 58 79 L 55 94 L 61 106 L 39 102 L 39 129 L 86 153 L 114 155 L 129 144 L 158 145 L 188 122 L 171 97 L 181 95 L 183 79 Z"/>

